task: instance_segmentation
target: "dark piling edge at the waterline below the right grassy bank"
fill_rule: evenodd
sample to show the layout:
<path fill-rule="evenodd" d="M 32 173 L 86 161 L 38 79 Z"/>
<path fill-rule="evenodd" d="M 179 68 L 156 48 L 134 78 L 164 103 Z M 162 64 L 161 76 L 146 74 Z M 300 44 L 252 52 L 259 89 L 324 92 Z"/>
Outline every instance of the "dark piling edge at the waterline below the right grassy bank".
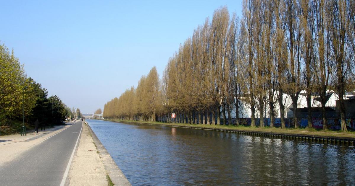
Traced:
<path fill-rule="evenodd" d="M 289 139 L 297 141 L 313 141 L 318 143 L 333 143 L 333 144 L 344 144 L 349 146 L 354 146 L 355 137 L 337 137 L 337 136 L 321 136 L 321 135 L 307 135 L 307 134 L 284 134 L 284 133 L 274 133 L 274 132 L 264 132 L 264 131 L 247 131 L 240 129 L 215 129 L 207 127 L 195 127 L 195 126 L 177 126 L 177 125 L 167 125 L 167 124 L 151 124 L 151 123 L 139 123 L 139 122 L 124 122 L 124 121 L 114 121 L 112 122 L 122 122 L 122 123 L 137 123 L 146 125 L 160 125 L 160 126 L 170 126 L 179 128 L 189 128 L 189 129 L 200 129 L 200 130 L 212 130 L 217 132 L 225 133 L 236 133 L 260 137 L 270 137 L 276 139 Z"/>

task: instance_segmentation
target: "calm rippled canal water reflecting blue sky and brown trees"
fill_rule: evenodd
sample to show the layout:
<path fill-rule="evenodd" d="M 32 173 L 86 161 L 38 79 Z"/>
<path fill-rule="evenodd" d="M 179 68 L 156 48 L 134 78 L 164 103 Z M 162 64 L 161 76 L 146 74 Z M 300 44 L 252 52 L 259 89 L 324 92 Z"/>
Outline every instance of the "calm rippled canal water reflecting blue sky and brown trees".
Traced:
<path fill-rule="evenodd" d="M 354 185 L 355 148 L 86 120 L 132 185 Z"/>

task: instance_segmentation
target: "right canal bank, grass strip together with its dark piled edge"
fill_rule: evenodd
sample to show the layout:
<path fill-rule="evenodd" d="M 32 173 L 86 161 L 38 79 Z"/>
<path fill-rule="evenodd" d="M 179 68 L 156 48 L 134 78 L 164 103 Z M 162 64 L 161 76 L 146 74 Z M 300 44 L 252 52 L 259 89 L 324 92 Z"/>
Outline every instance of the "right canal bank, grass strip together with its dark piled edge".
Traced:
<path fill-rule="evenodd" d="M 211 126 L 204 127 L 202 126 L 188 126 L 188 125 L 179 125 L 179 124 L 157 124 L 157 123 L 144 123 L 144 122 L 132 122 L 132 121 L 115 121 L 113 122 L 122 122 L 122 123 L 137 123 L 137 124 L 148 124 L 148 125 L 160 125 L 160 126 L 169 126 L 169 127 L 179 127 L 179 128 L 189 128 L 189 129 L 200 129 L 200 130 L 211 130 L 225 133 L 236 133 L 243 135 L 252 135 L 252 136 L 263 136 L 277 139 L 290 139 L 290 140 L 299 140 L 299 141 L 314 141 L 319 143 L 342 143 L 350 146 L 354 145 L 355 135 L 354 134 L 337 134 L 337 133 L 324 133 L 321 131 L 302 131 L 297 133 L 297 131 L 262 131 L 259 128 L 253 129 L 249 128 L 248 130 L 243 129 L 221 129 L 213 128 Z M 309 133 L 309 134 L 305 134 Z M 337 136 L 338 135 L 338 136 Z"/>

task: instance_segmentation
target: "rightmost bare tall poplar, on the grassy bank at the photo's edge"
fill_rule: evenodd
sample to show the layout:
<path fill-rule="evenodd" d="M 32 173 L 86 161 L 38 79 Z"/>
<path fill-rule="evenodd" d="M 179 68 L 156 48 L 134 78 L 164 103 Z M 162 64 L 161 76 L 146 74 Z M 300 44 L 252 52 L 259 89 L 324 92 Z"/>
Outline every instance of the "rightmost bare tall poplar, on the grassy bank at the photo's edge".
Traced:
<path fill-rule="evenodd" d="M 345 124 L 345 105 L 344 95 L 346 91 L 346 79 L 351 73 L 351 68 L 354 66 L 354 47 L 351 40 L 351 20 L 354 20 L 354 7 L 350 1 L 332 0 L 327 3 L 326 12 L 329 16 L 327 19 L 327 31 L 330 45 L 333 50 L 333 60 L 335 67 L 332 71 L 332 79 L 334 81 L 335 90 L 339 95 L 339 111 L 341 127 L 346 131 Z"/>

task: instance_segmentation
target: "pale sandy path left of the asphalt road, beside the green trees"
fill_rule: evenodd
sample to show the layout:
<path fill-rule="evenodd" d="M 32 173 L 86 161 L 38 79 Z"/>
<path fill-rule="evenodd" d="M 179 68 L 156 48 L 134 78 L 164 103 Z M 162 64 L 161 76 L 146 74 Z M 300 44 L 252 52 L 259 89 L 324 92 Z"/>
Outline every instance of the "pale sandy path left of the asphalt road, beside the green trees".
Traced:
<path fill-rule="evenodd" d="M 72 124 L 66 123 L 66 125 L 38 131 L 37 135 L 34 132 L 28 132 L 26 136 L 21 136 L 21 134 L 0 136 L 0 162 L 3 164 L 10 162 L 21 153 L 58 134 Z"/>

